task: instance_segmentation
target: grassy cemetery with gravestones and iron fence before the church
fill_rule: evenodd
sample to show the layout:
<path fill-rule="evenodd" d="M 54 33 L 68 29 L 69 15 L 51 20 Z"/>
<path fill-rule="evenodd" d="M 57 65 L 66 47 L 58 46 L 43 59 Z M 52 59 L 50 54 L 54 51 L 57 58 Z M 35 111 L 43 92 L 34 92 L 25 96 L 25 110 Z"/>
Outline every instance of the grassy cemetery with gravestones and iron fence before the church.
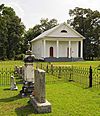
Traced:
<path fill-rule="evenodd" d="M 0 62 L 0 115 L 100 115 L 100 61 Z"/>

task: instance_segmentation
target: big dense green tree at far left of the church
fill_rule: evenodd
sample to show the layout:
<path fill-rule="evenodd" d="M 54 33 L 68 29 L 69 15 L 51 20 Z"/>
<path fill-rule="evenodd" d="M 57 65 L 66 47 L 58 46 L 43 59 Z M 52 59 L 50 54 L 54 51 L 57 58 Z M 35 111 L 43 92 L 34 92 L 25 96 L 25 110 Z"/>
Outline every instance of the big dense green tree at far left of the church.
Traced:
<path fill-rule="evenodd" d="M 0 5 L 0 50 L 2 58 L 21 53 L 25 26 L 11 7 Z"/>

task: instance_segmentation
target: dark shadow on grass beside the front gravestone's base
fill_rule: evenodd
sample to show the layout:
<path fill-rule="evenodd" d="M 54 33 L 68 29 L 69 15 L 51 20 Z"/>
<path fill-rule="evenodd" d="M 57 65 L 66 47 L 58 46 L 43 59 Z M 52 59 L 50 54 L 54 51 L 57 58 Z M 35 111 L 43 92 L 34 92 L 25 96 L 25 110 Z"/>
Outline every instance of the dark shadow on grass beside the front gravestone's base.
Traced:
<path fill-rule="evenodd" d="M 17 116 L 29 116 L 30 114 L 35 114 L 31 104 L 16 108 L 15 112 Z"/>

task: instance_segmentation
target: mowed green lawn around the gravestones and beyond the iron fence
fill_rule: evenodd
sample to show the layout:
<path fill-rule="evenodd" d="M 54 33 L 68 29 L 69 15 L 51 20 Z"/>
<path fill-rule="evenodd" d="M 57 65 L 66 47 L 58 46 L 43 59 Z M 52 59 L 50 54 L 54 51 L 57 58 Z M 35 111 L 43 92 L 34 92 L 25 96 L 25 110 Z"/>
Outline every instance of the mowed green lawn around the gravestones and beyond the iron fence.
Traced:
<path fill-rule="evenodd" d="M 100 62 L 64 64 L 97 67 Z M 46 78 L 52 77 L 47 74 Z M 52 112 L 34 114 L 34 108 L 28 103 L 29 98 L 19 95 L 22 85 L 17 86 L 18 91 L 9 90 L 10 86 L 0 86 L 0 116 L 100 116 L 100 88 L 83 89 L 72 82 L 46 83 L 46 98 L 52 104 Z"/>

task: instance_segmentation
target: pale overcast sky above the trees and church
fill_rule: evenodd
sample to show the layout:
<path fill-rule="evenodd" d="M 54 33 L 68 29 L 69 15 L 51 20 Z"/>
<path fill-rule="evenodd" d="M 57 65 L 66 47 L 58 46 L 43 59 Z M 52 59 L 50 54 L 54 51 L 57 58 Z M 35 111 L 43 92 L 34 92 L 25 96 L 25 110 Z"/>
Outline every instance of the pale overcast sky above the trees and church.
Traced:
<path fill-rule="evenodd" d="M 100 11 L 100 0 L 0 0 L 2 3 L 15 10 L 27 29 L 39 24 L 41 18 L 66 22 L 69 9 L 75 7 Z"/>

